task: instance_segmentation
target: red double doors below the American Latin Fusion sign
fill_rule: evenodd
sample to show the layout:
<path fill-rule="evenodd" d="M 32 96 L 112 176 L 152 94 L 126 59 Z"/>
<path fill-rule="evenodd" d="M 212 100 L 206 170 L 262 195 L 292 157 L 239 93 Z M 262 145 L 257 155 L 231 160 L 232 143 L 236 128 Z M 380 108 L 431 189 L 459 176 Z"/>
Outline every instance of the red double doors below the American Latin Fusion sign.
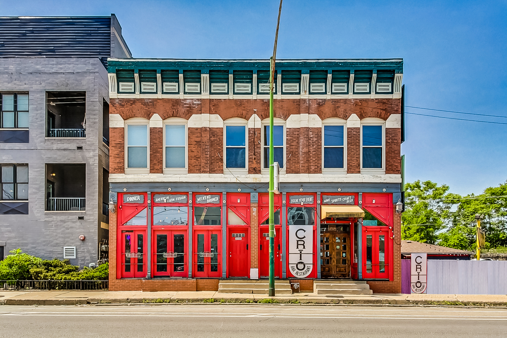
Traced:
<path fill-rule="evenodd" d="M 153 231 L 153 276 L 188 277 L 187 246 L 185 230 Z"/>

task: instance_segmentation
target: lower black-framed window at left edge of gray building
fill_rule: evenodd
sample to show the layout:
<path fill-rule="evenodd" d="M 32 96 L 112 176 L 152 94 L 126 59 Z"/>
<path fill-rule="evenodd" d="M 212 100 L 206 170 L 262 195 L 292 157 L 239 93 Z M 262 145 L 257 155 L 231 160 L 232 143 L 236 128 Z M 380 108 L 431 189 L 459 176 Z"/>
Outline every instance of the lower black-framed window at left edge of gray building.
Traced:
<path fill-rule="evenodd" d="M 3 164 L 0 167 L 2 200 L 28 200 L 28 166 Z"/>

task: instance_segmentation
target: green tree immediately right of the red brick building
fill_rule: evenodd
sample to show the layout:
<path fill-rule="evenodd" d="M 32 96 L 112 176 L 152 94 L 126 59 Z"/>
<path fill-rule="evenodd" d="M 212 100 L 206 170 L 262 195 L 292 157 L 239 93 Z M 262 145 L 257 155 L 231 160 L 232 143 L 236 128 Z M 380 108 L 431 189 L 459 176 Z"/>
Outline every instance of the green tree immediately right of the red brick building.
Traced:
<path fill-rule="evenodd" d="M 417 180 L 405 184 L 405 212 L 402 214 L 402 239 L 436 244 L 446 228 L 451 208 L 459 195 L 448 193 L 449 185 Z"/>

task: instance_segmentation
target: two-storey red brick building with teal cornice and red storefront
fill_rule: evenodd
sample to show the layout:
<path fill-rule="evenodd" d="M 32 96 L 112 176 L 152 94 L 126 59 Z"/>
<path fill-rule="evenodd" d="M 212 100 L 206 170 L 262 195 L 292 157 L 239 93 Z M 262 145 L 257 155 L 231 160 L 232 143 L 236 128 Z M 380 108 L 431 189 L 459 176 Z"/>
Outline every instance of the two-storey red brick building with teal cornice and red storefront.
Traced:
<path fill-rule="evenodd" d="M 269 62 L 109 59 L 108 76 L 110 289 L 267 277 Z M 401 291 L 402 77 L 402 59 L 277 61 L 278 278 Z"/>

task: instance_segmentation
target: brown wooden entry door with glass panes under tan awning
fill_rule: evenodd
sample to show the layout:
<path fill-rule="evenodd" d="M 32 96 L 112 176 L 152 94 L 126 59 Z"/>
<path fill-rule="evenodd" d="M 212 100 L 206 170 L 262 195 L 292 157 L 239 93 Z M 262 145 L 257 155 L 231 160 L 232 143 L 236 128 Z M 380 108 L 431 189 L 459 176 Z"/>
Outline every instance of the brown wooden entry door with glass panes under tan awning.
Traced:
<path fill-rule="evenodd" d="M 322 278 L 350 277 L 350 235 L 329 231 L 320 234 L 320 275 Z"/>

